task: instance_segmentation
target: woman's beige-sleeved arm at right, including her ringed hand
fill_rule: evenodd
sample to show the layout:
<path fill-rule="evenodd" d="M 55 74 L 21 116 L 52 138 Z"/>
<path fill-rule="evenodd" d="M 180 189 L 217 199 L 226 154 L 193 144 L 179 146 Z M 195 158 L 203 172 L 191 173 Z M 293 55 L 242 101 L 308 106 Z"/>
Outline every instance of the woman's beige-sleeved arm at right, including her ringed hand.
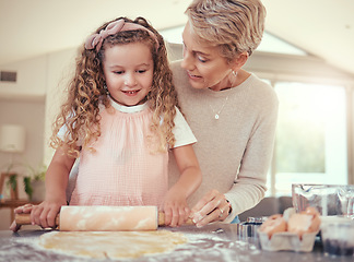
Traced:
<path fill-rule="evenodd" d="M 228 191 L 211 190 L 193 206 L 192 215 L 197 226 L 219 221 L 231 223 L 236 215 L 253 207 L 264 196 L 279 103 L 274 92 L 267 92 L 262 97 L 264 102 L 258 106 L 258 117 L 252 132 L 247 136 L 247 145 L 234 183 Z"/>

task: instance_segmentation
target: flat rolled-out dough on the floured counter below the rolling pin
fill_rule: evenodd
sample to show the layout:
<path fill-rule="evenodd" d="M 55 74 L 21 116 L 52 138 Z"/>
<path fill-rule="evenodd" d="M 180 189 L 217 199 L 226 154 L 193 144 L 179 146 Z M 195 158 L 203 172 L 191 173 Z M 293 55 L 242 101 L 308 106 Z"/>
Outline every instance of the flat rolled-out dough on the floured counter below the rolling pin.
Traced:
<path fill-rule="evenodd" d="M 97 259 L 132 259 L 173 251 L 187 242 L 180 233 L 155 231 L 50 231 L 39 238 L 47 250 Z"/>

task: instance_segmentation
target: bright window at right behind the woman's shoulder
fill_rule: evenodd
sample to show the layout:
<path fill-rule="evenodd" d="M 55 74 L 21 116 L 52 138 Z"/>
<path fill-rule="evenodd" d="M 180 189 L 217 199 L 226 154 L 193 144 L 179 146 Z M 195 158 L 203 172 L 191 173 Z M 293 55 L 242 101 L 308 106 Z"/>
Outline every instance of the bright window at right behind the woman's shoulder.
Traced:
<path fill-rule="evenodd" d="M 269 193 L 288 195 L 292 183 L 345 184 L 345 88 L 296 82 L 274 88 L 280 108 Z"/>

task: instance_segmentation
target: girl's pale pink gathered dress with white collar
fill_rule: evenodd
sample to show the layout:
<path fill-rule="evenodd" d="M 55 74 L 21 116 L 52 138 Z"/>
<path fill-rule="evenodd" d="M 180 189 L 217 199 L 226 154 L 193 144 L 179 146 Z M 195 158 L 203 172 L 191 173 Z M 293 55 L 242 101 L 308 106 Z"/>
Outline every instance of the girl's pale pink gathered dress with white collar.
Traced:
<path fill-rule="evenodd" d="M 81 152 L 70 205 L 158 205 L 168 190 L 168 153 L 149 148 L 152 111 L 146 104 L 111 104 L 101 108 L 102 134 L 91 144 L 95 152 Z"/>

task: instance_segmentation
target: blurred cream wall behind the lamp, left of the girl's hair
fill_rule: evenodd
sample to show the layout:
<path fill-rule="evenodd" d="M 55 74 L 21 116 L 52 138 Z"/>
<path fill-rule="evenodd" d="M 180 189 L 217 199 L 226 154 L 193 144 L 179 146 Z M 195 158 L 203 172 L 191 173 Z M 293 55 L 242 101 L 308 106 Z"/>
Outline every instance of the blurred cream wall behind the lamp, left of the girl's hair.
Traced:
<path fill-rule="evenodd" d="M 39 58 L 1 67 L 0 70 L 16 71 L 17 82 L 0 82 L 0 126 L 22 124 L 26 129 L 25 152 L 14 155 L 19 164 L 38 167 L 48 165 L 52 150 L 48 146 L 51 122 L 58 111 L 60 97 L 68 75 L 72 72 L 75 49 L 58 51 Z M 0 168 L 5 171 L 10 155 L 0 152 Z M 27 169 L 16 166 L 14 171 L 25 175 Z M 8 198 L 8 190 L 3 191 Z M 21 199 L 27 199 L 22 178 L 19 181 Z M 0 230 L 10 225 L 10 209 L 0 210 Z"/>

